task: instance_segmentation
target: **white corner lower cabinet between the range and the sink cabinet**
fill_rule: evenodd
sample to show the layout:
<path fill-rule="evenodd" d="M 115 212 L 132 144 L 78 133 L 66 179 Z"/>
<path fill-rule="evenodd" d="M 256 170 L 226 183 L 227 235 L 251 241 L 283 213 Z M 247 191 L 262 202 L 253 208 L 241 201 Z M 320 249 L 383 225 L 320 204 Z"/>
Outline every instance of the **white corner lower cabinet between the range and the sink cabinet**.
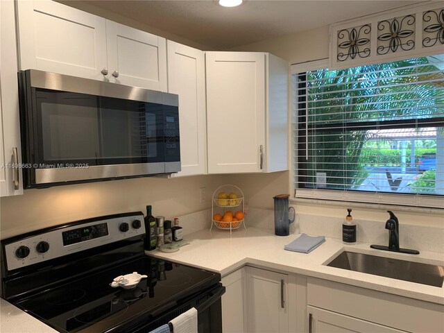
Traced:
<path fill-rule="evenodd" d="M 305 291 L 296 286 L 296 275 L 245 266 L 222 284 L 223 333 L 302 332 L 296 324 L 304 325 Z M 296 290 L 303 293 L 298 306 Z"/>

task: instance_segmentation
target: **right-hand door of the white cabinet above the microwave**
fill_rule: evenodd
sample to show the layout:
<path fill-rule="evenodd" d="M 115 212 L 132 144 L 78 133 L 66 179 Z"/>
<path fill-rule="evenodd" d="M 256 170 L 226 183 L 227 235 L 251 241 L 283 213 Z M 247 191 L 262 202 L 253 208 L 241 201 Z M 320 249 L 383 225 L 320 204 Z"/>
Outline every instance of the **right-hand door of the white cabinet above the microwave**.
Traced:
<path fill-rule="evenodd" d="M 110 82 L 167 91 L 167 41 L 106 21 Z"/>

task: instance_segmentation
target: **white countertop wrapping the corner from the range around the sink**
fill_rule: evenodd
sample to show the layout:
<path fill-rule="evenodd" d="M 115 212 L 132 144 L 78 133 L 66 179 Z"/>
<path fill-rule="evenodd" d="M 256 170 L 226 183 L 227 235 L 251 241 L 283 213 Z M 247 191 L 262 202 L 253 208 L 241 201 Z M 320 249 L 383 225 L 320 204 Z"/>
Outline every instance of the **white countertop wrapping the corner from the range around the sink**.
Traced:
<path fill-rule="evenodd" d="M 187 235 L 185 240 L 190 244 L 182 246 L 178 252 L 163 253 L 160 250 L 153 250 L 146 253 L 174 262 L 218 271 L 222 276 L 250 264 L 444 305 L 443 287 L 432 287 L 323 265 L 325 262 L 330 262 L 330 258 L 344 249 L 440 266 L 444 266 L 443 253 L 426 251 L 420 251 L 420 255 L 391 253 L 374 250 L 370 248 L 370 244 L 358 243 L 344 246 L 342 241 L 332 238 L 327 238 L 321 246 L 309 254 L 284 250 L 284 245 L 289 244 L 298 236 L 299 234 L 290 234 L 279 237 L 275 236 L 273 230 L 251 227 L 247 230 L 243 228 L 233 230 L 231 235 L 228 230 L 213 229 L 211 232 L 201 230 Z"/>

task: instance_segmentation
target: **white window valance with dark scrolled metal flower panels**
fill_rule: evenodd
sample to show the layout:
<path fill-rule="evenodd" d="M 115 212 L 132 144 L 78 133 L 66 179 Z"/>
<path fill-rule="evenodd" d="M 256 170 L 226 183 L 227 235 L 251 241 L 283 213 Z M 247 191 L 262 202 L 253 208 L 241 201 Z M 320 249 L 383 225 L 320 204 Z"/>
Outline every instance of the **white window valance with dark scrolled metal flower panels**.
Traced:
<path fill-rule="evenodd" d="M 444 53 L 438 1 L 330 26 L 330 69 Z"/>

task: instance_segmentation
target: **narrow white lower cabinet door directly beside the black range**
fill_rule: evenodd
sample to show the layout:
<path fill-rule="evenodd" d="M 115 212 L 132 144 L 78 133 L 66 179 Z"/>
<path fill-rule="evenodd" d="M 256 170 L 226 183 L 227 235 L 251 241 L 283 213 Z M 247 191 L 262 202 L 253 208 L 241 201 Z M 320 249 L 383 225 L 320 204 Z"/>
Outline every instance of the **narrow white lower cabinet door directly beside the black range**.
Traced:
<path fill-rule="evenodd" d="M 222 296 L 223 333 L 246 331 L 246 276 L 240 268 L 222 278 L 225 293 Z"/>

